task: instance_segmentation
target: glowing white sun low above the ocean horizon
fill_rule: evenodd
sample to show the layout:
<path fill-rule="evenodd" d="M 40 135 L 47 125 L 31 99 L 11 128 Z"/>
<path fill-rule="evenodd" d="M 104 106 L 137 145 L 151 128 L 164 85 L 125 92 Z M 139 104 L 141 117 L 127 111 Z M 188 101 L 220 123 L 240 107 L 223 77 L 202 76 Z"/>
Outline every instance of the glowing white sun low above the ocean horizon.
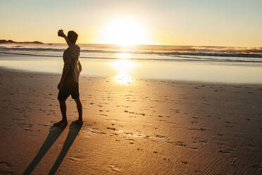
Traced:
<path fill-rule="evenodd" d="M 131 18 L 118 18 L 101 30 L 103 44 L 150 44 L 148 32 L 142 24 Z"/>

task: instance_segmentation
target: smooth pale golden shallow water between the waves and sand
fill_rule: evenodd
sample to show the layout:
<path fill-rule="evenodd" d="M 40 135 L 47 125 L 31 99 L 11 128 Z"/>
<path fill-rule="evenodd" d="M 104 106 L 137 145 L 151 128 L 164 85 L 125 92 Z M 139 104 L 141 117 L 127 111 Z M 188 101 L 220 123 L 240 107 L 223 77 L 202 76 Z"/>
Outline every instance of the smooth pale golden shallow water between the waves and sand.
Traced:
<path fill-rule="evenodd" d="M 47 52 L 45 52 L 45 54 L 46 53 Z M 61 73 L 63 59 L 60 54 L 62 54 L 62 52 L 51 54 L 56 56 L 56 58 L 51 58 L 50 56 L 1 54 L 0 64 L 8 68 L 35 72 Z M 82 56 L 85 56 L 85 54 L 86 53 Z M 262 84 L 262 79 L 260 78 L 262 76 L 262 69 L 259 63 L 254 63 L 253 65 L 252 63 L 239 62 L 228 62 L 227 64 L 225 62 L 218 62 L 216 64 L 211 63 L 212 61 L 205 62 L 206 59 L 215 58 L 201 58 L 201 61 L 194 62 L 179 61 L 181 58 L 178 58 L 178 61 L 134 61 L 132 59 L 120 59 L 118 56 L 121 55 L 117 54 L 100 55 L 97 53 L 91 53 L 86 56 L 91 56 L 95 59 L 80 59 L 83 66 L 81 74 L 85 76 L 115 77 L 124 75 L 125 78 L 129 79 L 175 80 L 205 84 Z M 113 57 L 115 59 L 101 59 L 100 56 L 101 58 Z M 123 56 L 131 55 L 124 54 Z M 134 58 L 135 57 L 136 56 L 134 56 Z M 156 56 L 154 59 L 159 59 L 158 57 L 159 56 Z M 137 59 L 139 59 L 139 56 Z M 163 59 L 165 60 L 165 58 Z M 219 59 L 217 61 L 219 61 Z M 240 62 L 241 61 L 244 60 L 240 60 Z"/>

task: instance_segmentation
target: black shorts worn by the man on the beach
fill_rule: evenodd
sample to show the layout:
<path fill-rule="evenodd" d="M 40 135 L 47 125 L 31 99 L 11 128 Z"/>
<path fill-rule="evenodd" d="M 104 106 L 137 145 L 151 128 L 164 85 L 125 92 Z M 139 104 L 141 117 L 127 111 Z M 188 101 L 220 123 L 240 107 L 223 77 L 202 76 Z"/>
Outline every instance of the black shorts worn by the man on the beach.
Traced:
<path fill-rule="evenodd" d="M 79 98 L 79 85 L 78 82 L 65 84 L 59 90 L 57 99 L 66 101 L 66 99 L 71 95 L 73 99 Z"/>

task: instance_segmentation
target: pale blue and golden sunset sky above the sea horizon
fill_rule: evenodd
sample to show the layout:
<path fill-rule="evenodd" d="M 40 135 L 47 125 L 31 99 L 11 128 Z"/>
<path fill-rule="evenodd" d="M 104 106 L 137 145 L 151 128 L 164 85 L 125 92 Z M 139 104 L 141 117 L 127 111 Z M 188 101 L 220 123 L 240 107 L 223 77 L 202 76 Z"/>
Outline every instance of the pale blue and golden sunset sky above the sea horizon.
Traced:
<path fill-rule="evenodd" d="M 262 47 L 261 0 L 1 0 L 0 40 Z"/>

